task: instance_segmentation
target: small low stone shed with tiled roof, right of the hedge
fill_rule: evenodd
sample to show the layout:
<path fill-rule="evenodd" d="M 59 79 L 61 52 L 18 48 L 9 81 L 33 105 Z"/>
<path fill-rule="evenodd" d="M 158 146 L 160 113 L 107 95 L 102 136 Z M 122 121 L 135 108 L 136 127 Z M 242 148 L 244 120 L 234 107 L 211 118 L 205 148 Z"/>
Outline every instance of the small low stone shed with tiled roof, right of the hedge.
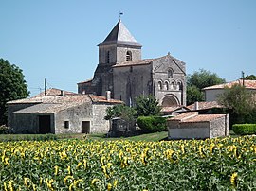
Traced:
<path fill-rule="evenodd" d="M 182 113 L 167 121 L 169 139 L 229 136 L 229 114 Z"/>

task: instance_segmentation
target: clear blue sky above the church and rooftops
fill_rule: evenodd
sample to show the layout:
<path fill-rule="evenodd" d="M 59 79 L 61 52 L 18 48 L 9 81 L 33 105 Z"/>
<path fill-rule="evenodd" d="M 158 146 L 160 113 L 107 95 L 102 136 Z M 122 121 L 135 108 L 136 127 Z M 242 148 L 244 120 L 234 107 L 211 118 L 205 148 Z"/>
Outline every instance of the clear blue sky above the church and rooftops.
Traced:
<path fill-rule="evenodd" d="M 77 92 L 92 78 L 98 44 L 119 21 L 142 58 L 171 53 L 187 74 L 200 68 L 227 81 L 256 75 L 254 0 L 0 0 L 0 58 L 19 66 L 31 96 L 47 86 Z"/>

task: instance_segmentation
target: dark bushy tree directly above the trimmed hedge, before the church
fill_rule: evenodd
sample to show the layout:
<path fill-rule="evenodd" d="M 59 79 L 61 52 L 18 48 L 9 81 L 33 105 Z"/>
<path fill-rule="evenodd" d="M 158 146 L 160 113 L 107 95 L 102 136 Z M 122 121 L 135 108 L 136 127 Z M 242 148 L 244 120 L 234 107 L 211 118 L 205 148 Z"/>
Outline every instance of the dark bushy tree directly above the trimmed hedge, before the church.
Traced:
<path fill-rule="evenodd" d="M 138 96 L 136 99 L 138 116 L 159 115 L 161 108 L 155 96 Z"/>

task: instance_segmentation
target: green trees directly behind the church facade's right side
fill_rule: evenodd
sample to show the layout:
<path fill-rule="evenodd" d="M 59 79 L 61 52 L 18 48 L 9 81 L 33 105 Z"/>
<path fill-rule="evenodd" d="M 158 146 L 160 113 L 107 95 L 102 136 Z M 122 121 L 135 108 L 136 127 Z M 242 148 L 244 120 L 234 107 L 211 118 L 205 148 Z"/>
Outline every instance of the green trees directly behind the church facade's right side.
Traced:
<path fill-rule="evenodd" d="M 225 83 L 224 78 L 219 78 L 217 74 L 200 69 L 187 77 L 187 105 L 195 101 L 204 101 L 205 96 L 202 89 L 216 84 Z"/>

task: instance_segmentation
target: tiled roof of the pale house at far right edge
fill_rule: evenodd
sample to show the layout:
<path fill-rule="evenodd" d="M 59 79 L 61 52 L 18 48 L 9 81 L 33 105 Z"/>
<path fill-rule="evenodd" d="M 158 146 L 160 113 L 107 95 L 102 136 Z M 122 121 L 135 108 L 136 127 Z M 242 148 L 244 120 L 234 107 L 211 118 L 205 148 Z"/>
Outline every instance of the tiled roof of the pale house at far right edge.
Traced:
<path fill-rule="evenodd" d="M 256 80 L 244 80 L 245 86 L 247 89 L 255 89 L 256 90 Z M 241 84 L 243 85 L 243 80 L 238 79 L 235 81 L 231 81 L 229 83 L 223 83 L 223 84 L 218 84 L 218 85 L 213 85 L 210 87 L 203 88 L 203 90 L 213 90 L 213 89 L 223 89 L 225 87 L 232 87 L 234 84 Z"/>

